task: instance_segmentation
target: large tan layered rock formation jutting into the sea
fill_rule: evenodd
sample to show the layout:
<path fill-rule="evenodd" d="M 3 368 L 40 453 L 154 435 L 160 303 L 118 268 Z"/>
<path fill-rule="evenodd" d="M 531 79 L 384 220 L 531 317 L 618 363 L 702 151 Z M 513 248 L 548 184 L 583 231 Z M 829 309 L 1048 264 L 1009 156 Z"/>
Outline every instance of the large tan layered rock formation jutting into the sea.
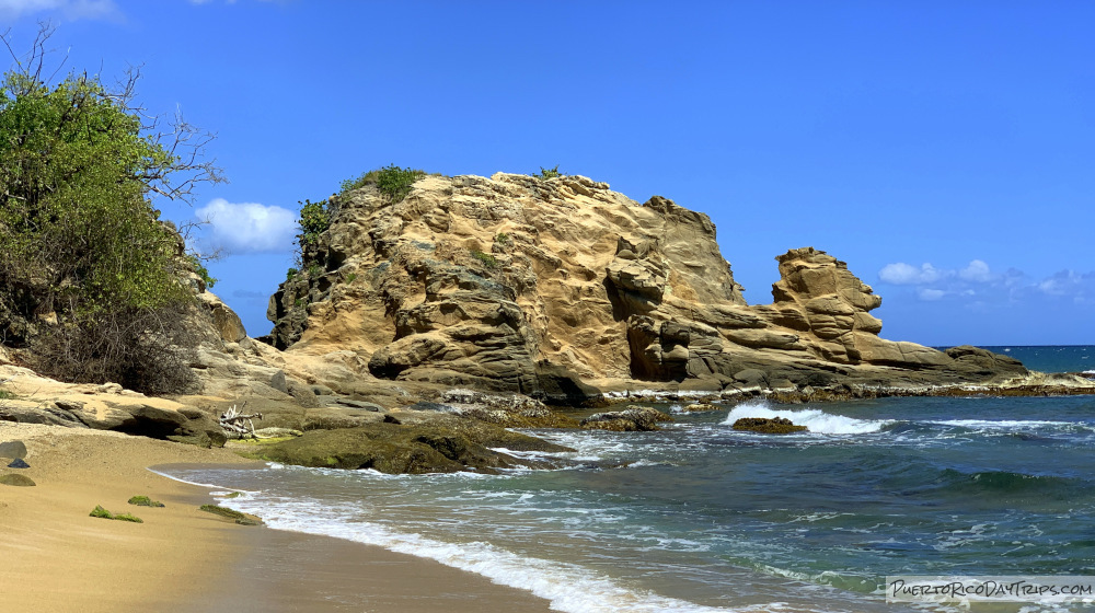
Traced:
<path fill-rule="evenodd" d="M 270 299 L 286 355 L 351 352 L 382 379 L 583 397 L 587 383 L 792 388 L 1025 373 L 986 351 L 878 336 L 881 300 L 843 262 L 777 257 L 749 307 L 707 216 L 581 176 L 426 176 L 332 203 L 306 270 Z M 971 352 L 973 351 L 973 352 Z"/>

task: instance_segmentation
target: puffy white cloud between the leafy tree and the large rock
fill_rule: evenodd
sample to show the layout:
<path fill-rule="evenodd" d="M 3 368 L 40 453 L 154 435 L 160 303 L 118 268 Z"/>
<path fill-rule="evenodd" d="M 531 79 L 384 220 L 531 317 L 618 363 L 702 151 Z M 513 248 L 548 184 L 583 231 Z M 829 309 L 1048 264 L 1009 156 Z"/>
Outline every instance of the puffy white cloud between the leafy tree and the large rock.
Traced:
<path fill-rule="evenodd" d="M 194 211 L 209 222 L 208 241 L 230 253 L 269 253 L 292 250 L 297 213 L 257 203 L 229 203 L 217 198 Z"/>

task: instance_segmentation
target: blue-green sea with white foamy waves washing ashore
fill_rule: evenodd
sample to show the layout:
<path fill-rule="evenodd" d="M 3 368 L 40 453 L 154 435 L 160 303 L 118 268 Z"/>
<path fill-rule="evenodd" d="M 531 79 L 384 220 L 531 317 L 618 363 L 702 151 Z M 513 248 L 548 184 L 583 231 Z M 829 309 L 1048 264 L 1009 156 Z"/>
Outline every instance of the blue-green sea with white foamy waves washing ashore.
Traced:
<path fill-rule="evenodd" d="M 1095 368 L 1092 347 L 991 349 Z M 884 602 L 887 575 L 1095 575 L 1095 396 L 653 406 L 677 421 L 533 430 L 577 450 L 569 470 L 173 476 L 246 490 L 223 504 L 273 528 L 437 559 L 573 613 L 913 611 Z M 810 431 L 730 428 L 771 416 Z"/>

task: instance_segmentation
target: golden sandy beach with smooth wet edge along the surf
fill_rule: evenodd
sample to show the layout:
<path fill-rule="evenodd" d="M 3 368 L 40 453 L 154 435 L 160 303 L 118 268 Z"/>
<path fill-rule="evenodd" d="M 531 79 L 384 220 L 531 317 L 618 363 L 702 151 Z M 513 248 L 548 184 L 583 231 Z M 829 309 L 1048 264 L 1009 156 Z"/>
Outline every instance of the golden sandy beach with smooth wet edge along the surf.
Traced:
<path fill-rule="evenodd" d="M 198 510 L 203 487 L 146 467 L 235 463 L 222 449 L 0 421 L 23 440 L 34 487 L 0 485 L 0 602 L 8 611 L 549 611 L 527 592 L 379 547 L 237 525 Z M 252 462 L 253 463 L 253 462 Z M 146 495 L 164 508 L 126 501 Z M 89 517 L 102 505 L 145 523 Z"/>

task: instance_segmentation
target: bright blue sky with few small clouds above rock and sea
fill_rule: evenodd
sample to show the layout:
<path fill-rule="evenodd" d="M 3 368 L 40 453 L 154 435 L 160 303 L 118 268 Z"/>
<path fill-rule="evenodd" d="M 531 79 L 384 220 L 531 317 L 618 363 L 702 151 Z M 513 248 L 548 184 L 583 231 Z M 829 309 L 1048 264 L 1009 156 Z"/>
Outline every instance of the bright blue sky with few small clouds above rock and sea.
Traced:
<path fill-rule="evenodd" d="M 883 336 L 1095 344 L 1095 3 L 0 0 L 218 135 L 215 291 L 265 334 L 297 203 L 391 163 L 560 165 L 706 212 L 750 304 L 811 245 Z"/>

